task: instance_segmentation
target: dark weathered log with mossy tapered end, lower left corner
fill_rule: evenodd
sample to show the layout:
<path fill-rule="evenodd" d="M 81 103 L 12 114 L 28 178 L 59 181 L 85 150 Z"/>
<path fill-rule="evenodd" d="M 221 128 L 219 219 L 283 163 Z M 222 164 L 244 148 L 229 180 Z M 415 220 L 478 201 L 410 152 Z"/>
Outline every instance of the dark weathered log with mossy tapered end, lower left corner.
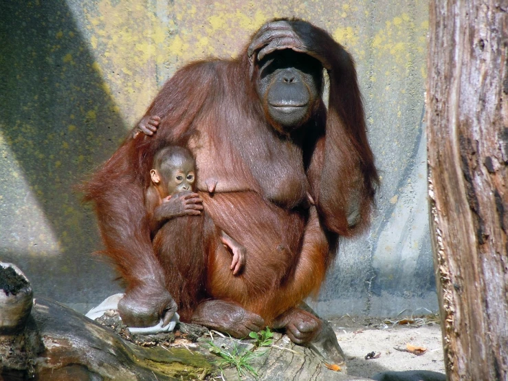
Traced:
<path fill-rule="evenodd" d="M 197 379 L 212 370 L 201 353 L 138 347 L 45 298 L 36 299 L 23 331 L 0 335 L 0 381 L 161 381 Z"/>

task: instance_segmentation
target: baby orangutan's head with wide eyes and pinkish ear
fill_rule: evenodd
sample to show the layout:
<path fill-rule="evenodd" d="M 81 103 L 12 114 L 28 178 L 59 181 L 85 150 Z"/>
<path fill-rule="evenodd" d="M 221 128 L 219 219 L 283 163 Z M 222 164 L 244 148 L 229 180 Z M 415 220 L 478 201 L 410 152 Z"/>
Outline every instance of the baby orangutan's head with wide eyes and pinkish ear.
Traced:
<path fill-rule="evenodd" d="M 150 175 L 152 182 L 164 193 L 162 197 L 194 190 L 196 179 L 194 160 L 186 157 L 180 155 L 169 157 L 162 162 L 160 168 L 152 169 Z"/>

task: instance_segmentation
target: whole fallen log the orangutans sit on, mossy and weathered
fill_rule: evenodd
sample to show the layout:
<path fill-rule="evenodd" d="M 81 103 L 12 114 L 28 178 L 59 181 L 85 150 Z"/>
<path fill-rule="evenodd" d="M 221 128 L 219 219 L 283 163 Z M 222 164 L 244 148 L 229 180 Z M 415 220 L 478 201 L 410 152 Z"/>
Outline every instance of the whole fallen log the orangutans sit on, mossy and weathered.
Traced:
<path fill-rule="evenodd" d="M 118 316 L 110 318 L 116 326 L 36 298 L 25 325 L 0 333 L 0 381 L 239 380 L 240 374 L 242 380 L 362 380 L 345 369 L 328 369 L 311 349 L 278 333 L 268 346 L 256 348 L 252 338 L 237 340 L 179 323 L 167 338 L 146 336 L 135 344 L 119 336 Z M 239 364 L 222 361 L 226 353 Z"/>

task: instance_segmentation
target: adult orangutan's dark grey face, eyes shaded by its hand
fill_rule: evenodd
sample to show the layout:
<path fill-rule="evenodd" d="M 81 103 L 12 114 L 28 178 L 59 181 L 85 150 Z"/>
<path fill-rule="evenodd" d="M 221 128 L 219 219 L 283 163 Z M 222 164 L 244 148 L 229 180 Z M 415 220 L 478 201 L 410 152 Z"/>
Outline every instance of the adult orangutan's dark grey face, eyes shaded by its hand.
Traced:
<path fill-rule="evenodd" d="M 322 92 L 320 62 L 285 49 L 267 54 L 258 67 L 256 90 L 274 127 L 285 132 L 300 127 L 311 116 Z"/>

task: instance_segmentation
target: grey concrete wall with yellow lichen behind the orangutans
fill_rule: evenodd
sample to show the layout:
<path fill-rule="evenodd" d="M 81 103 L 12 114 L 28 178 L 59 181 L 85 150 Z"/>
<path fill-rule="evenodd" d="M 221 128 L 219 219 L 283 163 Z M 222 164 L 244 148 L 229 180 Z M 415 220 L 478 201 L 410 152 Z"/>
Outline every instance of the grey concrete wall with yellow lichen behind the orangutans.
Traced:
<path fill-rule="evenodd" d="M 272 17 L 329 30 L 355 56 L 382 188 L 314 306 L 326 316 L 437 308 L 422 129 L 425 1 L 67 0 L 0 6 L 0 259 L 83 311 L 121 290 L 73 185 L 107 160 L 164 80 L 230 57 Z"/>

